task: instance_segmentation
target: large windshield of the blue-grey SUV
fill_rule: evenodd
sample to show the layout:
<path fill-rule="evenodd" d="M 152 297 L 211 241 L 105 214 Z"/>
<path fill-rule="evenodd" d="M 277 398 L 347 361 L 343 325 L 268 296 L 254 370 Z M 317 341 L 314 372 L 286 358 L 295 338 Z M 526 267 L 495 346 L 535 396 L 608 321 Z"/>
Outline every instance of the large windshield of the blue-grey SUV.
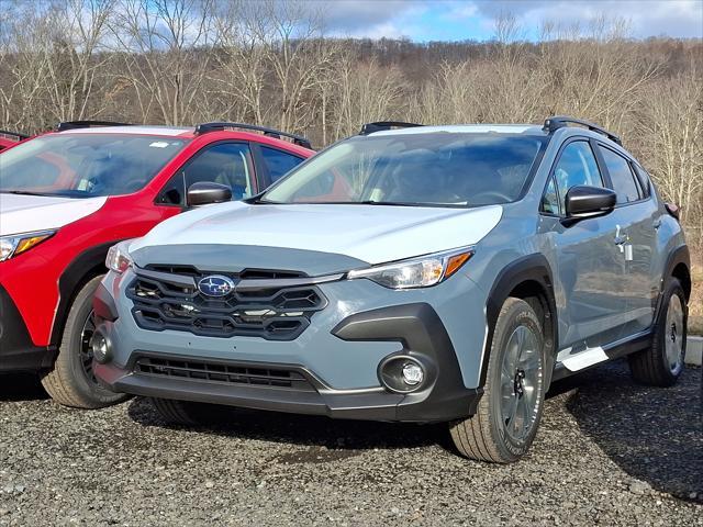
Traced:
<path fill-rule="evenodd" d="M 432 133 L 357 136 L 271 187 L 260 202 L 480 206 L 520 198 L 545 137 Z"/>

